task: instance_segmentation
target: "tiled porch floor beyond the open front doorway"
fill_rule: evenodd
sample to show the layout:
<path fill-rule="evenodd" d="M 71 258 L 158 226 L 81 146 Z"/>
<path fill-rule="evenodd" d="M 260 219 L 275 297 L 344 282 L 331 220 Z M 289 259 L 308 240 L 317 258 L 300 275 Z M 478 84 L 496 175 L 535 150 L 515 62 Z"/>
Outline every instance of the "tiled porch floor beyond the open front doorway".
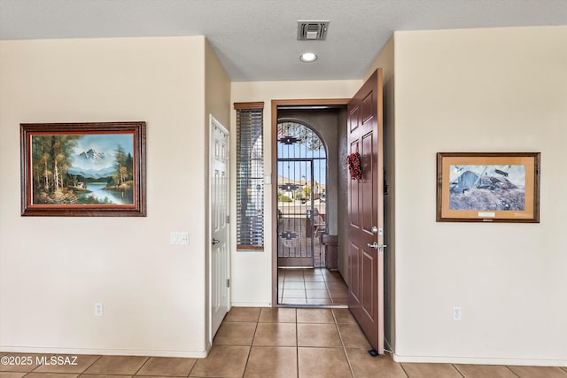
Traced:
<path fill-rule="evenodd" d="M 280 268 L 277 290 L 281 305 L 347 305 L 346 283 L 336 270 Z"/>

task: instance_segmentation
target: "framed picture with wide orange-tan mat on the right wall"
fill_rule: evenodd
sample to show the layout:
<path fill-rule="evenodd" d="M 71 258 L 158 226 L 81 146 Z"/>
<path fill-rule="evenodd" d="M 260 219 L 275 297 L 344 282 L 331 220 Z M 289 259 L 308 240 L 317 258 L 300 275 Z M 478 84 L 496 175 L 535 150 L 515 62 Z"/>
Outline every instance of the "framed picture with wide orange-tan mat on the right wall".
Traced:
<path fill-rule="evenodd" d="M 540 152 L 439 152 L 437 221 L 540 222 Z"/>

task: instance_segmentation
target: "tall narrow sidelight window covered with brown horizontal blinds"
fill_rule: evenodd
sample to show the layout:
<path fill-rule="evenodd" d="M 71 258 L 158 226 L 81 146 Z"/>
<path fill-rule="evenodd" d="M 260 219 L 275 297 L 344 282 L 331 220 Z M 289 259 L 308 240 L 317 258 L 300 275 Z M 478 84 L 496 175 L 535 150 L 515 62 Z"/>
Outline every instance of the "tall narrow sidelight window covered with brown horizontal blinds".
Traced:
<path fill-rule="evenodd" d="M 264 249 L 264 103 L 237 103 L 237 250 Z"/>

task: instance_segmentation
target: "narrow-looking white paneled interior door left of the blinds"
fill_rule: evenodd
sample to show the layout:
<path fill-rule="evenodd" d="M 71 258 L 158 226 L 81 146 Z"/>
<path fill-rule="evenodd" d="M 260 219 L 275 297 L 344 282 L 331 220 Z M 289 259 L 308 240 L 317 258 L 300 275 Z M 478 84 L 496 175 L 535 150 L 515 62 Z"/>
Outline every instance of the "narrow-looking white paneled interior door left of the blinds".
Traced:
<path fill-rule="evenodd" d="M 229 312 L 229 131 L 210 116 L 210 341 Z"/>

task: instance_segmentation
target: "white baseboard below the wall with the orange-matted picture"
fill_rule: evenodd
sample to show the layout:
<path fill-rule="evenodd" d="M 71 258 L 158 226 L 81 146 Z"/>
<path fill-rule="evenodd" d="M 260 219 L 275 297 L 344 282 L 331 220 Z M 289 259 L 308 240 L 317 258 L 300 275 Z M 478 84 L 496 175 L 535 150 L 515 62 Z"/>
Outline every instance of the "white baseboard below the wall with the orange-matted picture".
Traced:
<path fill-rule="evenodd" d="M 392 354 L 396 362 L 421 362 L 440 364 L 472 364 L 472 365 L 517 365 L 517 366 L 567 366 L 566 359 L 500 359 L 479 357 L 452 356 L 400 356 Z"/>

